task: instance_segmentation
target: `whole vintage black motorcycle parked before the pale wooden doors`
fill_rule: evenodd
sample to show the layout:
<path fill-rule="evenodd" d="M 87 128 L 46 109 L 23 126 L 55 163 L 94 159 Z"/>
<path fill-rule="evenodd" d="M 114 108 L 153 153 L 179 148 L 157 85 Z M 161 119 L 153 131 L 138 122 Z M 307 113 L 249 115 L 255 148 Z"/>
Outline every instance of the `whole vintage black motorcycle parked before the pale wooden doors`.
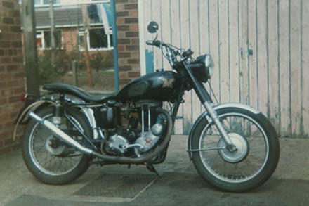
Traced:
<path fill-rule="evenodd" d="M 158 28 L 150 22 L 147 30 L 157 34 Z M 230 192 L 249 191 L 270 178 L 280 156 L 270 121 L 249 105 L 214 105 L 203 84 L 213 74 L 211 56 L 194 59 L 190 49 L 157 37 L 146 44 L 161 49 L 173 71 L 138 77 L 114 94 L 90 96 L 75 86 L 46 84 L 48 94 L 25 98 L 17 123 L 27 124 L 22 155 L 37 179 L 65 184 L 91 164 L 146 165 L 156 172 L 154 165 L 166 158 L 183 95 L 191 89 L 206 110 L 188 137 L 197 172 Z"/>

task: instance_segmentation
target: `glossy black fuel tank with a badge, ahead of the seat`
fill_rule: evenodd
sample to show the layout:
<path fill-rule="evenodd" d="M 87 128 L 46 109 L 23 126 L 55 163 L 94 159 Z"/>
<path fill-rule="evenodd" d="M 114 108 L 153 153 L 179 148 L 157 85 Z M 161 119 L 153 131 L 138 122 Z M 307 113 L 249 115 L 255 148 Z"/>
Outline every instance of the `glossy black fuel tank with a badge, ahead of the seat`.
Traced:
<path fill-rule="evenodd" d="M 180 79 L 175 72 L 154 72 L 133 79 L 121 89 L 116 98 L 124 100 L 171 101 L 180 88 Z"/>

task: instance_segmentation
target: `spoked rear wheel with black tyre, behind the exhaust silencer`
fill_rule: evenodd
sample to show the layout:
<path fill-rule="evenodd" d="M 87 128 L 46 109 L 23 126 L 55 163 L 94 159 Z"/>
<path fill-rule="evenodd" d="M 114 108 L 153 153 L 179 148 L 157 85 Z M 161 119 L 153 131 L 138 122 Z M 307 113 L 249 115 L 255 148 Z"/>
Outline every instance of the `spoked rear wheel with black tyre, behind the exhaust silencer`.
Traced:
<path fill-rule="evenodd" d="M 52 121 L 52 108 L 37 112 L 41 118 Z M 91 129 L 84 115 L 77 109 L 68 109 L 67 115 L 74 124 L 91 137 Z M 83 137 L 72 123 L 62 118 L 59 128 L 83 143 Z M 25 163 L 37 177 L 46 184 L 65 184 L 77 179 L 89 167 L 90 157 L 60 141 L 53 132 L 38 122 L 30 120 L 23 137 L 22 155 Z"/>

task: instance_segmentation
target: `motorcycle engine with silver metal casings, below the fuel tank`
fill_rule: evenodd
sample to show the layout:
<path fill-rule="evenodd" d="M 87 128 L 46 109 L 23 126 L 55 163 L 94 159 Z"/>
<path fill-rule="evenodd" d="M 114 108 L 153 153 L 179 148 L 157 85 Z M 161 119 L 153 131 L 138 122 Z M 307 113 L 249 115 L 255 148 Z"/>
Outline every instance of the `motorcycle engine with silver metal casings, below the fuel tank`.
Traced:
<path fill-rule="evenodd" d="M 129 157 L 155 148 L 166 128 L 165 117 L 156 112 L 157 107 L 162 107 L 162 103 L 143 101 L 119 107 L 114 112 L 118 115 L 113 123 L 117 127 L 105 129 L 102 152 Z"/>

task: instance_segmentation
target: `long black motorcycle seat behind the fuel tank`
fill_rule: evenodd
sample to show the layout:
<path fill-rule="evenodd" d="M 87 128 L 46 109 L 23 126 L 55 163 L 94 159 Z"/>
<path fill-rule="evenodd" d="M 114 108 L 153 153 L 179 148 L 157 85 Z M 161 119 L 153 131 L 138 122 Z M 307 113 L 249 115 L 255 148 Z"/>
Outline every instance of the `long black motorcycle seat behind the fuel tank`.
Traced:
<path fill-rule="evenodd" d="M 81 98 L 85 102 L 102 102 L 116 95 L 116 93 L 103 94 L 98 96 L 91 95 L 83 89 L 69 84 L 45 84 L 43 86 L 43 89 L 47 91 L 58 91 L 60 93 L 72 94 L 74 96 L 77 96 L 78 98 Z"/>

